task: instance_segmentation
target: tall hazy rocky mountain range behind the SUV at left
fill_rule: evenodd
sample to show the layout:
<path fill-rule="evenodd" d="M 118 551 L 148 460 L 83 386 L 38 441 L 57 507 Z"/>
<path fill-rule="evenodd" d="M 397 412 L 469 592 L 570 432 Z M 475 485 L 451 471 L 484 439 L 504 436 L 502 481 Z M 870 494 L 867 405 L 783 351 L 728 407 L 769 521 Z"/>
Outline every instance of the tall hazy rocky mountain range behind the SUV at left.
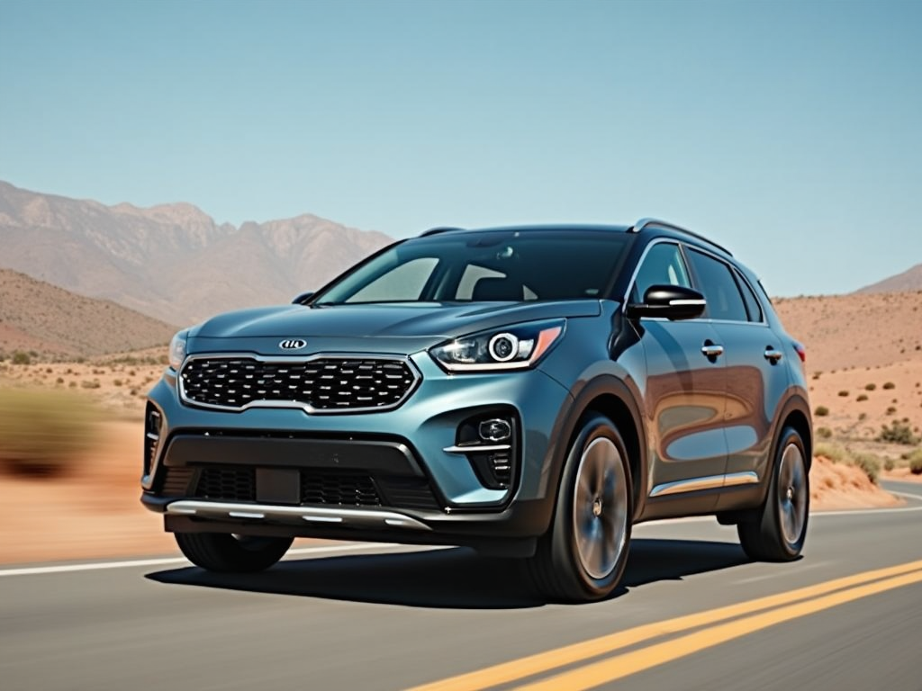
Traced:
<path fill-rule="evenodd" d="M 188 204 L 106 206 L 0 182 L 0 267 L 183 325 L 288 302 L 389 241 L 311 215 L 236 228 Z"/>

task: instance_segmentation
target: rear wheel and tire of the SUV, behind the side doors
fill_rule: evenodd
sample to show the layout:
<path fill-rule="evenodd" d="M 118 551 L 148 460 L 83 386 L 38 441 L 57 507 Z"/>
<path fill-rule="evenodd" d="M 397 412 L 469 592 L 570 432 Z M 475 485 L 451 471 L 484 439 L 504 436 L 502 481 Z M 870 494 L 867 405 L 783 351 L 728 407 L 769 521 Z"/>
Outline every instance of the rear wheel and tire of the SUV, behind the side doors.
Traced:
<path fill-rule="evenodd" d="M 772 479 L 762 507 L 750 521 L 737 525 L 739 542 L 751 559 L 791 561 L 807 537 L 810 516 L 810 475 L 803 439 L 785 427 L 774 450 Z"/>

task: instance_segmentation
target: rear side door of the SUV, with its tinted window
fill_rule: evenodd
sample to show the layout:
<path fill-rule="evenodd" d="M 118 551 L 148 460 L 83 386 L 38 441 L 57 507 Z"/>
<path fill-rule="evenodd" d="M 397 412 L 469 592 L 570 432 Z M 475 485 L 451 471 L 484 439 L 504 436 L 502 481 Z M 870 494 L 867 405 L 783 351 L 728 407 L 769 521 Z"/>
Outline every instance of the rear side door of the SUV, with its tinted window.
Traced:
<path fill-rule="evenodd" d="M 781 364 L 785 350 L 739 270 L 707 252 L 689 248 L 687 255 L 724 345 L 727 476 L 717 509 L 734 509 L 758 496 L 759 480 L 771 462 L 775 407 L 788 383 Z"/>

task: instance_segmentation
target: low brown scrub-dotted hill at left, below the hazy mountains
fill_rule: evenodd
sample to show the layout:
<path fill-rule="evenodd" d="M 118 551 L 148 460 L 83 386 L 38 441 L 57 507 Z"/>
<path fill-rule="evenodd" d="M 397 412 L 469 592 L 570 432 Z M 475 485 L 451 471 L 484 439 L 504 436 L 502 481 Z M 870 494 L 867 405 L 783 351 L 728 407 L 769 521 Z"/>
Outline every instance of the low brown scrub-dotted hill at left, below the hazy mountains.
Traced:
<path fill-rule="evenodd" d="M 176 328 L 110 300 L 0 269 L 0 353 L 92 357 L 165 345 Z"/>

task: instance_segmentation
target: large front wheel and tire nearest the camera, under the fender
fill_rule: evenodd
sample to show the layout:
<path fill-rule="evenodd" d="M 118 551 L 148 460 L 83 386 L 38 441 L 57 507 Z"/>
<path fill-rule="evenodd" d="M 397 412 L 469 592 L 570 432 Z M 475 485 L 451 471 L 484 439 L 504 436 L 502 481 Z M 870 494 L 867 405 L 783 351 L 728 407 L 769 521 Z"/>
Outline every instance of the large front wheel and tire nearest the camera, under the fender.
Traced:
<path fill-rule="evenodd" d="M 633 493 L 624 441 L 607 417 L 586 418 L 573 439 L 552 521 L 528 560 L 538 590 L 563 602 L 608 596 L 627 563 Z"/>

